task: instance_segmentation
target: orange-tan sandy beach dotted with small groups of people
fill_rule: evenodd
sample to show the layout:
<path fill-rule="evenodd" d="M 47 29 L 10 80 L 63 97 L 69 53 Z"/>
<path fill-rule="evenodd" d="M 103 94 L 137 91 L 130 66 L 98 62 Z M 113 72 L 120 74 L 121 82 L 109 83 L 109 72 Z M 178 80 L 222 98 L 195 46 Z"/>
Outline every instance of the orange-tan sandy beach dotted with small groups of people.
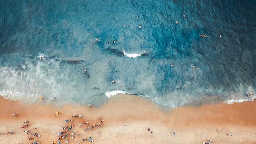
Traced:
<path fill-rule="evenodd" d="M 212 144 L 256 143 L 255 100 L 235 102 L 231 105 L 208 104 L 198 107 L 180 107 L 175 110 L 163 110 L 150 100 L 127 94 L 112 96 L 98 108 L 82 105 L 56 107 L 54 104 L 57 102 L 44 104 L 44 101 L 39 100 L 33 105 L 26 105 L 1 96 L 1 143 L 31 144 L 37 141 L 41 144 L 54 142 L 82 144 L 90 143 L 88 140 L 83 141 L 89 137 L 94 140 L 93 143 L 99 144 L 202 144 L 208 140 L 212 140 Z M 60 114 L 55 117 L 55 112 Z M 13 113 L 18 116 L 13 116 Z M 82 117 L 72 117 L 73 115 L 82 115 Z M 65 122 L 65 119 L 69 122 Z M 29 126 L 21 129 L 25 125 L 24 121 L 29 121 L 26 123 Z M 83 121 L 88 121 L 89 124 L 83 124 Z M 98 123 L 100 125 L 97 127 Z M 72 124 L 74 126 L 71 130 L 66 131 L 61 128 L 61 126 L 69 128 Z M 90 126 L 93 128 L 88 129 Z M 87 128 L 86 131 L 85 128 Z M 222 131 L 217 131 L 218 129 Z M 40 137 L 24 131 L 37 133 Z M 59 138 L 57 133 L 62 131 L 65 133 L 60 136 L 66 134 L 68 136 L 57 140 Z M 3 134 L 7 132 L 14 133 Z M 74 132 L 74 135 L 71 132 Z M 173 132 L 175 135 L 172 134 Z M 229 133 L 232 136 L 226 135 Z M 71 139 L 72 136 L 74 139 Z M 28 140 L 30 137 L 33 139 Z M 65 142 L 67 139 L 69 141 Z"/>

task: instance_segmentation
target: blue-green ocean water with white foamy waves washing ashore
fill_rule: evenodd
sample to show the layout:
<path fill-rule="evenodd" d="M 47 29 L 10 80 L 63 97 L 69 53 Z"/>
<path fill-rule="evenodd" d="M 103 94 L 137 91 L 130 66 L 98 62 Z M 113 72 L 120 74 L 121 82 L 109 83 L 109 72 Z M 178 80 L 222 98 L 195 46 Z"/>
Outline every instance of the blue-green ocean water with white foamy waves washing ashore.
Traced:
<path fill-rule="evenodd" d="M 245 92 L 256 93 L 255 5 L 1 0 L 0 95 L 100 105 L 131 93 L 171 108 L 250 101 L 255 95 Z"/>

